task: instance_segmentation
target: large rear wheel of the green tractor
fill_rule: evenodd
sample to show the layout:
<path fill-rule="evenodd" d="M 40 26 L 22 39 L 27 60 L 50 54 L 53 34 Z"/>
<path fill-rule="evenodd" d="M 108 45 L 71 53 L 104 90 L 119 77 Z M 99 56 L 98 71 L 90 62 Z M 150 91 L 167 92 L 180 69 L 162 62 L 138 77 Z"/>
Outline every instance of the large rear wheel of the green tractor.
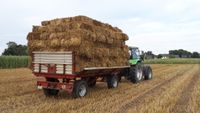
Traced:
<path fill-rule="evenodd" d="M 142 66 L 131 66 L 129 74 L 132 83 L 139 83 L 143 78 Z"/>

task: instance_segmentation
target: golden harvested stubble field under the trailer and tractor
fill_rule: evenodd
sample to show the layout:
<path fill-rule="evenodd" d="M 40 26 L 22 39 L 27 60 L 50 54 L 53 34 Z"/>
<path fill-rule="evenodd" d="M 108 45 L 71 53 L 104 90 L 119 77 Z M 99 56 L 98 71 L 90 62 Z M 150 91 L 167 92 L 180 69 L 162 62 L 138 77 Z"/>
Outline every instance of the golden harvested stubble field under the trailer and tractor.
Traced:
<path fill-rule="evenodd" d="M 200 113 L 200 65 L 154 64 L 154 78 L 140 84 L 122 80 L 116 89 L 97 83 L 86 97 L 64 92 L 47 98 L 26 68 L 0 70 L 2 113 Z"/>

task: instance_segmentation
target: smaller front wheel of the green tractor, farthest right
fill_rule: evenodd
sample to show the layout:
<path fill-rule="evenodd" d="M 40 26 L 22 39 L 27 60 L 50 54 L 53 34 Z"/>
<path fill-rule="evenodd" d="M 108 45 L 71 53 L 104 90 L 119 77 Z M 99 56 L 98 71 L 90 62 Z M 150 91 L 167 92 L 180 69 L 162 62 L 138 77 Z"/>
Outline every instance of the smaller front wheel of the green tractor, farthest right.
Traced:
<path fill-rule="evenodd" d="M 153 72 L 150 66 L 145 66 L 143 69 L 143 73 L 144 73 L 145 80 L 150 80 L 153 78 Z"/>

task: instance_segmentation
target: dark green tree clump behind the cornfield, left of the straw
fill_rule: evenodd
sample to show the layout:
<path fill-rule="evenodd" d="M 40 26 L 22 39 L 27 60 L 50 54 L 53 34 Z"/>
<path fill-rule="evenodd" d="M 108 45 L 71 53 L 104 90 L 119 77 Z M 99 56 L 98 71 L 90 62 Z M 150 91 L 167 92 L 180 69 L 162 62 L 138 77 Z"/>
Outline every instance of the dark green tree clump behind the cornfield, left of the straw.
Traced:
<path fill-rule="evenodd" d="M 18 45 L 15 42 L 8 42 L 7 45 L 8 48 L 4 50 L 2 55 L 16 55 L 16 56 L 28 55 L 26 45 L 21 45 L 21 44 Z"/>

